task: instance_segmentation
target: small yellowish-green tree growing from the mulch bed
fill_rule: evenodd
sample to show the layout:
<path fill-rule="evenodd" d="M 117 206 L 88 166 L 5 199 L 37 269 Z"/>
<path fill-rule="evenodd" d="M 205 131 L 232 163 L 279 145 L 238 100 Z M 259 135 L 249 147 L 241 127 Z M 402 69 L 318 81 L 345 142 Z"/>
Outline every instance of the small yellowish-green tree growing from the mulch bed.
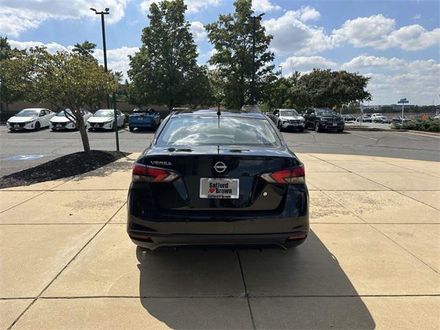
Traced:
<path fill-rule="evenodd" d="M 115 91 L 117 83 L 113 75 L 104 72 L 96 61 L 84 61 L 76 53 L 56 52 L 50 54 L 45 47 L 35 47 L 2 61 L 0 72 L 10 88 L 23 93 L 31 102 L 49 102 L 65 111 L 67 118 L 80 131 L 84 151 L 90 151 L 80 107 L 96 96 Z"/>

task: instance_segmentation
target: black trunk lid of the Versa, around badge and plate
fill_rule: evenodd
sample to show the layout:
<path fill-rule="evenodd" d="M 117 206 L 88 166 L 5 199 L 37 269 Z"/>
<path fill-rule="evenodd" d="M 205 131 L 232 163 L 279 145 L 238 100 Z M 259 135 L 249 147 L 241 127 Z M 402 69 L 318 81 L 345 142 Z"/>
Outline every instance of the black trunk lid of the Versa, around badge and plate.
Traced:
<path fill-rule="evenodd" d="M 180 177 L 170 183 L 146 184 L 155 208 L 163 212 L 211 210 L 213 212 L 274 211 L 282 208 L 287 184 L 269 184 L 262 173 L 298 166 L 300 162 L 287 148 L 216 147 L 154 148 L 137 162 L 174 170 Z M 214 169 L 217 163 L 226 168 Z M 220 168 L 222 170 L 223 168 Z M 201 197 L 201 179 L 238 179 L 238 198 Z M 208 180 L 212 181 L 212 180 Z M 223 181 L 223 180 L 218 180 Z"/>

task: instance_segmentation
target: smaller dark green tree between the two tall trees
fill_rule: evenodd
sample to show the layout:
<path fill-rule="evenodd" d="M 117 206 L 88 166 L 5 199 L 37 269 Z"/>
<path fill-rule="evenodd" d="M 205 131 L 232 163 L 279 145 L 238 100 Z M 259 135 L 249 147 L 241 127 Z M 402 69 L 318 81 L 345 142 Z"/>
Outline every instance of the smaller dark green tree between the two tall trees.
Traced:
<path fill-rule="evenodd" d="M 188 72 L 186 88 L 187 102 L 191 109 L 196 109 L 198 105 L 203 107 L 203 105 L 212 102 L 213 97 L 206 65 L 196 65 Z"/>

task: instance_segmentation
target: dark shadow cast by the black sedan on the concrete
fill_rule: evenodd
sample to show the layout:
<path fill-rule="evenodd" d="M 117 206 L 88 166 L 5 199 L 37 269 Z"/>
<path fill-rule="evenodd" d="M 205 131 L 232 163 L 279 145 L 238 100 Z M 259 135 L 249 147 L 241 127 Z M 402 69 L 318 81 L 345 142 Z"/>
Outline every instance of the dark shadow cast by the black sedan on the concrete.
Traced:
<path fill-rule="evenodd" d="M 243 297 L 256 329 L 375 329 L 338 260 L 313 232 L 288 251 L 137 248 L 137 259 L 140 303 L 173 329 L 252 327 Z M 154 296 L 173 299 L 146 298 Z"/>

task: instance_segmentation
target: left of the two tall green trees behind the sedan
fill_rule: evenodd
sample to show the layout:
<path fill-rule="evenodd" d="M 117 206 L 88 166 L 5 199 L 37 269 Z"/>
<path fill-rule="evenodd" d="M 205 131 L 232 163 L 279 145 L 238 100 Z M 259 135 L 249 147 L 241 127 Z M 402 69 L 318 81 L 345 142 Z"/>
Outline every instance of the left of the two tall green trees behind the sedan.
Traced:
<path fill-rule="evenodd" d="M 171 110 L 187 101 L 186 80 L 197 65 L 197 48 L 185 11 L 183 0 L 151 4 L 142 46 L 130 56 L 129 99 L 135 104 L 166 104 Z"/>

